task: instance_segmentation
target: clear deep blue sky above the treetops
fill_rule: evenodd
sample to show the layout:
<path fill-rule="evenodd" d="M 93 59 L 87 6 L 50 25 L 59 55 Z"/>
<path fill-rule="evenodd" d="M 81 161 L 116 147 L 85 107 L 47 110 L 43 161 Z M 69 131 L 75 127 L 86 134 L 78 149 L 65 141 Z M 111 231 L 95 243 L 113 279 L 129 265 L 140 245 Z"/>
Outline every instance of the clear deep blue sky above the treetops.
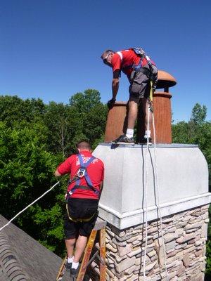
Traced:
<path fill-rule="evenodd" d="M 177 79 L 170 88 L 175 122 L 188 120 L 196 103 L 211 119 L 210 0 L 0 1 L 0 94 L 68 103 L 96 89 L 111 98 L 112 71 L 104 50 L 142 46 Z M 121 77 L 117 100 L 127 100 Z"/>

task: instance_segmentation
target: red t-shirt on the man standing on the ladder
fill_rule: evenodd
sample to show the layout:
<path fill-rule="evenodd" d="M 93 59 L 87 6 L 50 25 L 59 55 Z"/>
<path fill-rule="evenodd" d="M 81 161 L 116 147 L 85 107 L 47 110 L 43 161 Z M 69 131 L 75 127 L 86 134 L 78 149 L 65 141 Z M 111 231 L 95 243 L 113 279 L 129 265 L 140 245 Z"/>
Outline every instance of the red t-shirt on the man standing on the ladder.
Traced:
<path fill-rule="evenodd" d="M 83 158 L 83 162 L 87 162 L 91 157 L 91 152 L 84 150 L 80 153 Z M 61 175 L 70 173 L 70 178 L 73 178 L 80 167 L 80 162 L 77 157 L 77 155 L 71 155 L 68 157 L 68 159 L 65 160 L 62 164 L 58 166 L 58 172 Z M 87 174 L 89 175 L 89 178 L 91 179 L 91 183 L 94 186 L 94 188 L 98 191 L 100 191 L 100 185 L 104 178 L 104 164 L 101 161 L 101 159 L 95 158 L 91 164 L 87 167 Z M 71 183 L 68 186 L 68 192 L 74 188 L 75 183 Z M 80 180 L 79 185 L 85 185 L 87 186 L 87 181 L 85 177 L 83 177 Z M 82 189 L 76 189 L 75 192 L 71 195 L 71 198 L 82 198 L 82 199 L 98 199 L 98 195 L 94 193 L 92 190 L 82 190 Z"/>

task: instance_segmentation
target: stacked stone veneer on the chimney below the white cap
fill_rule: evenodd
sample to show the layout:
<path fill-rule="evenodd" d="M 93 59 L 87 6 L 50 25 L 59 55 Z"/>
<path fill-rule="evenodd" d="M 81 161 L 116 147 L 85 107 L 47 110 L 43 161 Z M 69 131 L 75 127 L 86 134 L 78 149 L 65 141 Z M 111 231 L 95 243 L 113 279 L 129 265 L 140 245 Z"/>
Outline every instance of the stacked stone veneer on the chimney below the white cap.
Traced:
<path fill-rule="evenodd" d="M 198 207 L 162 218 L 169 280 L 202 281 L 205 271 L 208 207 Z M 160 220 L 148 222 L 146 279 L 167 280 Z M 145 224 L 119 230 L 106 227 L 106 280 L 143 279 Z M 97 262 L 91 264 L 99 272 Z M 92 280 L 98 280 L 95 276 Z"/>

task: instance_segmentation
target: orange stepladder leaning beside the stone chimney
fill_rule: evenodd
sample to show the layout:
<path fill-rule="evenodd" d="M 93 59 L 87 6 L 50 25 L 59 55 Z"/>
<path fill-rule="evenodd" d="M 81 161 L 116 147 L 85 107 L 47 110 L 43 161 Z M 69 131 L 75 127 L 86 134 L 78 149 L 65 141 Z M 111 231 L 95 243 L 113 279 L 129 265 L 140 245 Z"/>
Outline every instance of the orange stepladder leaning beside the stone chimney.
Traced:
<path fill-rule="evenodd" d="M 91 257 L 91 251 L 94 247 L 94 242 L 96 240 L 96 235 L 99 233 L 99 244 L 96 244 L 97 251 Z M 79 268 L 79 273 L 77 275 L 76 281 L 83 281 L 84 276 L 87 270 L 87 267 L 91 264 L 91 262 L 98 258 L 100 261 L 100 281 L 106 281 L 106 221 L 102 221 L 100 218 L 97 219 L 93 230 L 89 236 L 89 240 L 87 242 L 87 246 L 84 250 L 84 256 L 82 259 L 82 263 Z M 63 263 L 60 266 L 58 271 L 58 275 L 56 277 L 56 281 L 60 281 L 63 279 L 63 275 L 65 273 L 65 262 L 67 256 L 63 260 Z"/>

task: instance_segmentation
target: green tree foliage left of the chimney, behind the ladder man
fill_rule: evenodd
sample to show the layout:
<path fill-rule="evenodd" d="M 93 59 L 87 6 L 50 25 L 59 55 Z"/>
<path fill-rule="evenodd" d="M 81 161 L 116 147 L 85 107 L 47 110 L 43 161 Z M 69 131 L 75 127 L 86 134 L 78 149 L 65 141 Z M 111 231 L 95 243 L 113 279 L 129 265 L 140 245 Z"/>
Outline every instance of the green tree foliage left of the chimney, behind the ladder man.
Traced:
<path fill-rule="evenodd" d="M 94 149 L 103 140 L 106 115 L 100 93 L 92 89 L 76 93 L 67 105 L 0 96 L 0 213 L 11 219 L 56 183 L 53 171 L 75 152 L 79 139 L 86 138 Z M 67 181 L 63 177 L 55 189 L 15 220 L 60 255 L 64 251 Z"/>

